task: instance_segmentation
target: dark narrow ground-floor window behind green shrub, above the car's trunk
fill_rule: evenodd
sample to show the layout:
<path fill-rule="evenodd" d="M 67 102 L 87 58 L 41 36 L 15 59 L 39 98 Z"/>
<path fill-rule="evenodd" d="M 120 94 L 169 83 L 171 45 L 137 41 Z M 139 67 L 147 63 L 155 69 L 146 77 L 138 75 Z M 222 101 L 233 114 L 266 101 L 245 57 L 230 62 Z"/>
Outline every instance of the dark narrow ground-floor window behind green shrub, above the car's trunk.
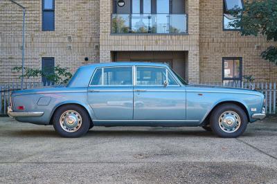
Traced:
<path fill-rule="evenodd" d="M 53 85 L 54 81 L 51 81 L 46 76 L 51 76 L 55 74 L 55 62 L 53 57 L 43 57 L 42 58 L 42 83 L 43 85 Z"/>

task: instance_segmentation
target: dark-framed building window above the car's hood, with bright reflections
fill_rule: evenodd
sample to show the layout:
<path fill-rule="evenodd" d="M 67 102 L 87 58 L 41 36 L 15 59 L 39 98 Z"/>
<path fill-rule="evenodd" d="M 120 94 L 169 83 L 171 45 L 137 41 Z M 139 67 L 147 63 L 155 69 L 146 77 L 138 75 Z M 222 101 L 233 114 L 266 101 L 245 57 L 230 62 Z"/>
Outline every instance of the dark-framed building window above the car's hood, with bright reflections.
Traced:
<path fill-rule="evenodd" d="M 222 59 L 222 80 L 224 84 L 242 81 L 242 58 L 224 57 Z"/>

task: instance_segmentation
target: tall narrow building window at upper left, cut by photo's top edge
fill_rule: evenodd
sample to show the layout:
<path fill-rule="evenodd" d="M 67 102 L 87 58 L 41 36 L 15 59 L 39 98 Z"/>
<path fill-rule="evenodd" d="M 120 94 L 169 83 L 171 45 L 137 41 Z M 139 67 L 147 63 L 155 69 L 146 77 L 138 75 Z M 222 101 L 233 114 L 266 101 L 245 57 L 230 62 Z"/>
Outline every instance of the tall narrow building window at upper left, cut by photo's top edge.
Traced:
<path fill-rule="evenodd" d="M 42 0 L 42 30 L 55 30 L 55 0 Z"/>

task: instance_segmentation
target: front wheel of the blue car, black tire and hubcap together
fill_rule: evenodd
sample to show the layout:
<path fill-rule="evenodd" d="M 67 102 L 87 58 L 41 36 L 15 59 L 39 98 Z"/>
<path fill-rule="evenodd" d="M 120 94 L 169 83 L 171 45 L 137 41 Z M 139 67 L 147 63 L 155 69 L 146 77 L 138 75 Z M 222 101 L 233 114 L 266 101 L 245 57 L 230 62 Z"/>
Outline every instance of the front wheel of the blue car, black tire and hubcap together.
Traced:
<path fill-rule="evenodd" d="M 240 106 L 226 103 L 213 110 L 210 118 L 211 129 L 217 136 L 235 138 L 247 129 L 247 114 Z"/>

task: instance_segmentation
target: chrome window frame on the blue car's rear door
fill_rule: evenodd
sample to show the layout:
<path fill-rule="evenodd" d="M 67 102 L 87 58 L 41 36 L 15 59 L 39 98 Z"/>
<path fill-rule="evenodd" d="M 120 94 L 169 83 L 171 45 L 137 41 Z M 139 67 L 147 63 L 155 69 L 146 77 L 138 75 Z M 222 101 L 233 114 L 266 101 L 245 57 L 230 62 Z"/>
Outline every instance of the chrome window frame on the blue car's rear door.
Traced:
<path fill-rule="evenodd" d="M 93 80 L 93 76 L 96 74 L 96 71 L 98 69 L 101 69 L 101 75 L 103 75 L 105 68 L 132 68 L 132 84 L 128 84 L 128 85 L 104 85 L 103 81 L 104 81 L 104 77 L 102 76 L 102 81 L 100 85 L 91 85 L 91 82 Z M 129 65 L 123 65 L 123 66 L 105 66 L 105 67 L 98 67 L 93 71 L 93 74 L 91 76 L 91 80 L 89 81 L 89 87 L 128 87 L 128 86 L 133 86 L 134 85 L 134 67 L 133 66 L 129 66 Z"/>

